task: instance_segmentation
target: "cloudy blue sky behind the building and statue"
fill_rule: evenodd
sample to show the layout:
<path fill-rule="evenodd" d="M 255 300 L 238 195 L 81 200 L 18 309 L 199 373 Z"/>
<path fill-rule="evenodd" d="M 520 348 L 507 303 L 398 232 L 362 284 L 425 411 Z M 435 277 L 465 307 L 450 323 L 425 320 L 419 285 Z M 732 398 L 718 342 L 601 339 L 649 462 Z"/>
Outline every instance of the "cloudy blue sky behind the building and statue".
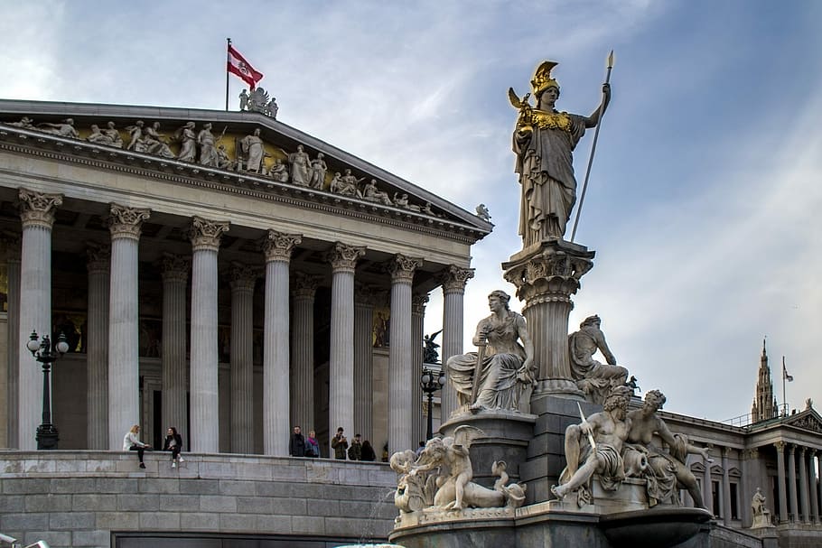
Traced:
<path fill-rule="evenodd" d="M 495 228 L 472 247 L 466 351 L 486 295 L 515 293 L 500 266 L 521 248 L 507 90 L 556 60 L 557 107 L 588 115 L 614 50 L 575 238 L 596 258 L 571 329 L 598 314 L 668 411 L 750 413 L 765 337 L 780 403 L 784 356 L 791 407 L 822 405 L 822 3 L 0 0 L 0 13 L 0 98 L 222 109 L 230 37 L 278 120 L 464 209 L 485 203 Z M 232 78 L 232 109 L 242 88 Z M 580 185 L 592 140 L 574 153 Z M 442 317 L 434 292 L 425 331 Z"/>

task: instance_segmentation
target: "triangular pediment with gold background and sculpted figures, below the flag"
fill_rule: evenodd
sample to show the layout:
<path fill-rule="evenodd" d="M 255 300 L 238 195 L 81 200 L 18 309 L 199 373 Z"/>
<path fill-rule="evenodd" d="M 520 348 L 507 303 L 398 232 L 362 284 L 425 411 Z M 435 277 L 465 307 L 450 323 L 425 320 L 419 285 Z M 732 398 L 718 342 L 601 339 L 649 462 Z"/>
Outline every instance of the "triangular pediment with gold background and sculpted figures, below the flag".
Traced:
<path fill-rule="evenodd" d="M 22 124 L 23 117 L 30 122 Z M 73 130 L 61 133 L 60 125 L 68 118 Z M 159 124 L 156 132 L 163 135 L 164 146 L 129 147 L 135 134 L 129 128 L 138 122 L 146 129 Z M 416 225 L 418 229 L 451 233 L 474 242 L 493 228 L 489 221 L 428 190 L 259 113 L 0 100 L 0 124 L 0 145 L 16 145 L 16 152 L 44 151 L 52 158 L 59 155 L 60 159 L 101 169 L 127 165 L 129 169 L 162 173 L 166 180 L 177 177 L 242 186 L 308 209 L 338 209 L 345 215 Z M 193 157 L 183 153 L 186 139 L 199 137 L 206 124 L 211 125 L 213 148 L 220 149 L 220 163 L 204 161 L 200 144 L 193 145 Z M 103 132 L 117 132 L 114 135 L 118 134 L 121 142 L 98 139 L 95 135 L 100 132 L 92 125 Z M 249 171 L 252 145 L 247 137 L 255 135 L 262 148 L 262 160 L 258 171 Z M 304 180 L 291 170 L 298 147 L 309 164 Z M 318 160 L 325 168 L 312 170 Z M 322 175 L 312 180 L 315 171 Z M 336 173 L 341 174 L 340 178 L 349 177 L 353 187 L 349 184 L 346 188 L 352 190 L 343 192 L 340 184 L 332 184 Z"/>

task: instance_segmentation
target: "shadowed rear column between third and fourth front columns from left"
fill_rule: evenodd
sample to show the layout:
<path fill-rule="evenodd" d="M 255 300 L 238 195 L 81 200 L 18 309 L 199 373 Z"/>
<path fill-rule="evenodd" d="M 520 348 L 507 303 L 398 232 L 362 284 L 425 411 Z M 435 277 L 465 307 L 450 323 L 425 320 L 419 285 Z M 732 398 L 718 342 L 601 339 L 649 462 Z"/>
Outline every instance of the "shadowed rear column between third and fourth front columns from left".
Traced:
<path fill-rule="evenodd" d="M 254 285 L 257 269 L 231 265 L 231 452 L 254 450 Z"/>

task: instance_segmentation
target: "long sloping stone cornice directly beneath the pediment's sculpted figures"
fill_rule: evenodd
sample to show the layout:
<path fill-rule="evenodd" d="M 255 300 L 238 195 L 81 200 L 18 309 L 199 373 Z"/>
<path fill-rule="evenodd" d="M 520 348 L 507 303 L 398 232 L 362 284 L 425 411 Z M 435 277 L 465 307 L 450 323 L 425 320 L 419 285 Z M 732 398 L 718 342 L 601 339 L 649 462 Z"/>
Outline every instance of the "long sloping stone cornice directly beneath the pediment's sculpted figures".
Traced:
<path fill-rule="evenodd" d="M 257 200 L 276 201 L 303 209 L 320 210 L 435 237 L 444 237 L 468 245 L 474 244 L 490 233 L 490 230 L 474 228 L 461 221 L 383 206 L 325 190 L 306 189 L 272 181 L 253 173 L 228 172 L 152 154 L 135 153 L 56 135 L 41 134 L 20 127 L 0 125 L 0 150 L 40 156 L 61 163 L 75 163 L 107 171 L 125 172 L 157 181 L 229 192 Z"/>

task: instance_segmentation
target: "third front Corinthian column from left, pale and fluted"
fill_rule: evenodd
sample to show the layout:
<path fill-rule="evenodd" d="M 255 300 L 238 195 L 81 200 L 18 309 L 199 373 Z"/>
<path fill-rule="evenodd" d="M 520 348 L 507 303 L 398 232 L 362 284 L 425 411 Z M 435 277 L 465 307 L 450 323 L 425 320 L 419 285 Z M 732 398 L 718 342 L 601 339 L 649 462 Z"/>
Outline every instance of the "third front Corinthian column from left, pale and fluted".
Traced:
<path fill-rule="evenodd" d="M 229 223 L 191 219 L 191 450 L 220 450 L 217 252 Z"/>

